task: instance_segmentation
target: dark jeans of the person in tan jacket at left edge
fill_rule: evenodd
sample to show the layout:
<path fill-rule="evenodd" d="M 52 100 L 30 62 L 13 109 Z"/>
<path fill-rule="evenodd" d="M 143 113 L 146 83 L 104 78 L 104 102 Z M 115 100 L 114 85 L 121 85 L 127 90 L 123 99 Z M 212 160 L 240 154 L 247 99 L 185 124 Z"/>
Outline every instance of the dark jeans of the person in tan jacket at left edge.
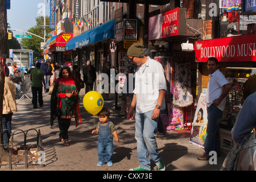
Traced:
<path fill-rule="evenodd" d="M 11 118 L 13 113 L 3 114 L 2 126 L 3 126 L 3 144 L 9 144 L 11 137 Z"/>

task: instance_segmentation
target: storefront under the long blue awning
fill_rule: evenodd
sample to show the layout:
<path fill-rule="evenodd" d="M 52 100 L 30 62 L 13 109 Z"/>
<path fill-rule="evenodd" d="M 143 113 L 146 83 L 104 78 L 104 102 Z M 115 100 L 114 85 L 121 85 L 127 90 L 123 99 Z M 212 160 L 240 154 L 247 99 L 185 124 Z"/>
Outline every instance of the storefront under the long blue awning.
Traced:
<path fill-rule="evenodd" d="M 111 67 L 114 66 L 115 57 L 110 51 L 111 38 L 114 38 L 114 20 L 75 36 L 66 44 L 65 51 L 77 55 L 79 65 L 91 60 L 98 74 L 102 67 L 103 57 L 107 57 Z"/>

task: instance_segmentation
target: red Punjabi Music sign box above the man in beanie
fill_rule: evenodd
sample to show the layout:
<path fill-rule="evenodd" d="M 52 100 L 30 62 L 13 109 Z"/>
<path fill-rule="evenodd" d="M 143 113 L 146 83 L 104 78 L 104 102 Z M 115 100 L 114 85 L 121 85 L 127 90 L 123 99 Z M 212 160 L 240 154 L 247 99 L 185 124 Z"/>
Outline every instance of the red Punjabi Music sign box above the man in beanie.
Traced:
<path fill-rule="evenodd" d="M 185 10 L 175 8 L 149 18 L 149 40 L 186 35 Z"/>

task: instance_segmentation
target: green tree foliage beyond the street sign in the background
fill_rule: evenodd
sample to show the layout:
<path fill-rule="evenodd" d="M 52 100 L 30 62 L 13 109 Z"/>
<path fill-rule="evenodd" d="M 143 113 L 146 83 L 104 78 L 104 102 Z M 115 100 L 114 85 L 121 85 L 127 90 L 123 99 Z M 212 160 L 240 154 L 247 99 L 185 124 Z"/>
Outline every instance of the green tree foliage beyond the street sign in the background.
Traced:
<path fill-rule="evenodd" d="M 35 18 L 37 25 L 29 28 L 28 32 L 43 38 L 43 19 L 43 16 L 38 16 Z M 50 24 L 50 16 L 45 17 L 45 22 L 46 25 Z M 46 34 L 49 34 L 51 31 L 52 30 L 49 28 L 49 26 L 46 26 Z M 32 49 L 34 51 L 33 60 L 36 61 L 38 59 L 43 59 L 43 49 L 41 49 L 41 42 L 43 42 L 43 39 L 31 35 L 31 39 L 21 40 L 21 47 L 23 49 Z"/>

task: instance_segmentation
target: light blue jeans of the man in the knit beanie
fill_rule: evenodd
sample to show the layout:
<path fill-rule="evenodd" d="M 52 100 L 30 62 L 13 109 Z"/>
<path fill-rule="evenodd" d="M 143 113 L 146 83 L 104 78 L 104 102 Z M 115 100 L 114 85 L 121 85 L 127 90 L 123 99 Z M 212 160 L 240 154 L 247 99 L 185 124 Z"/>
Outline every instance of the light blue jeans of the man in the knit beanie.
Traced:
<path fill-rule="evenodd" d="M 150 160 L 158 163 L 161 160 L 161 155 L 157 151 L 157 140 L 154 136 L 154 131 L 157 128 L 157 119 L 151 119 L 152 111 L 135 115 L 135 139 L 137 140 L 137 155 L 143 169 L 150 169 Z"/>

